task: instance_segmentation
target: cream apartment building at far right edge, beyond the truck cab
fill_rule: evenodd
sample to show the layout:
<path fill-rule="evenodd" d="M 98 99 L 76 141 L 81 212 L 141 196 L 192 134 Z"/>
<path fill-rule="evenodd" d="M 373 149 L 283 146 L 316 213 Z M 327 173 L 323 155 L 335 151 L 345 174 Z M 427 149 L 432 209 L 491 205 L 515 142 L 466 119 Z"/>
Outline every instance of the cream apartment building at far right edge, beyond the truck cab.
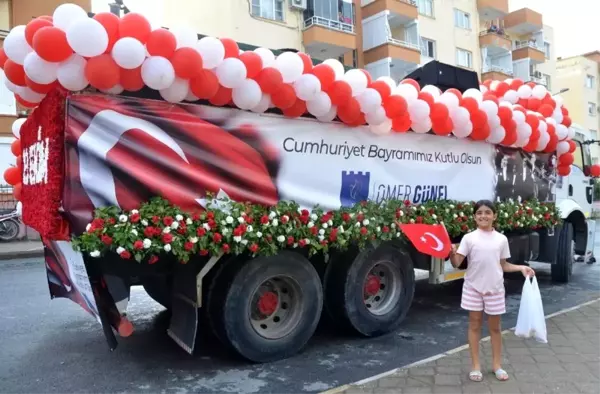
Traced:
<path fill-rule="evenodd" d="M 594 140 L 600 139 L 599 78 L 600 51 L 557 60 L 555 89 L 564 91 L 562 96 L 569 108 L 569 116 L 581 128 L 589 130 L 589 136 Z M 600 147 L 590 145 L 590 153 L 594 164 L 598 164 Z"/>

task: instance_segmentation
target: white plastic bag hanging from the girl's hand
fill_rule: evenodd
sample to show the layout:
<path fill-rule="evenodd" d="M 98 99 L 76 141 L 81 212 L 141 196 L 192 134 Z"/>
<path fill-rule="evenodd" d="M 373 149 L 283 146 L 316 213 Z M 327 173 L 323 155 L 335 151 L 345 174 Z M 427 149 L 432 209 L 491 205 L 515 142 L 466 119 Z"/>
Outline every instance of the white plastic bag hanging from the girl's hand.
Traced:
<path fill-rule="evenodd" d="M 515 335 L 521 338 L 535 338 L 538 342 L 548 343 L 542 295 L 535 276 L 531 281 L 529 278 L 525 278 Z"/>

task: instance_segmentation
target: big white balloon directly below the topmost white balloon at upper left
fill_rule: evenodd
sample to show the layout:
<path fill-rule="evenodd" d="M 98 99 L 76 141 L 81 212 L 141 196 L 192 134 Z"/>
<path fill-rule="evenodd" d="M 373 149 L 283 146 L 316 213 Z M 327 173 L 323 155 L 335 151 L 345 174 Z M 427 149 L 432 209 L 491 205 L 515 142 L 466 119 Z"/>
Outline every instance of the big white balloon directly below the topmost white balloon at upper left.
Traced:
<path fill-rule="evenodd" d="M 106 52 L 108 33 L 97 20 L 85 18 L 75 21 L 69 26 L 67 41 L 78 55 L 94 57 Z"/>

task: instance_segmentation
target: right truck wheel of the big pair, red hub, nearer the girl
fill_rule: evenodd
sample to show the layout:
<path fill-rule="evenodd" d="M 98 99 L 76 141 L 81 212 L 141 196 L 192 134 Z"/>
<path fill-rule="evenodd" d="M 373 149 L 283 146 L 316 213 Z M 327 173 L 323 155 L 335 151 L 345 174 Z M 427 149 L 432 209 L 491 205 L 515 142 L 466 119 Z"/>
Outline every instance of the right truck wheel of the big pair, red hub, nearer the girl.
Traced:
<path fill-rule="evenodd" d="M 342 256 L 340 256 L 342 257 Z M 391 243 L 330 264 L 325 305 L 332 320 L 366 337 L 388 333 L 406 317 L 415 291 L 412 259 Z"/>

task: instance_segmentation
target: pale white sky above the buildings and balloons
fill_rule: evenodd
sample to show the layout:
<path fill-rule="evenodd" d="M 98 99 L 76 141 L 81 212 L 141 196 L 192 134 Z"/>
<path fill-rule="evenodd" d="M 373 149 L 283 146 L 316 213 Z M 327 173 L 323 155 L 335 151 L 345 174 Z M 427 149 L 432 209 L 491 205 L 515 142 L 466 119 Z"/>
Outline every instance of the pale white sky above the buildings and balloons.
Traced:
<path fill-rule="evenodd" d="M 92 11 L 108 11 L 108 3 L 109 0 L 92 0 Z M 132 12 L 144 14 L 153 26 L 162 25 L 161 10 L 165 0 L 124 0 L 124 3 Z M 509 0 L 510 10 L 523 7 L 540 12 L 544 24 L 554 28 L 556 56 L 568 57 L 600 50 L 600 0 Z"/>

